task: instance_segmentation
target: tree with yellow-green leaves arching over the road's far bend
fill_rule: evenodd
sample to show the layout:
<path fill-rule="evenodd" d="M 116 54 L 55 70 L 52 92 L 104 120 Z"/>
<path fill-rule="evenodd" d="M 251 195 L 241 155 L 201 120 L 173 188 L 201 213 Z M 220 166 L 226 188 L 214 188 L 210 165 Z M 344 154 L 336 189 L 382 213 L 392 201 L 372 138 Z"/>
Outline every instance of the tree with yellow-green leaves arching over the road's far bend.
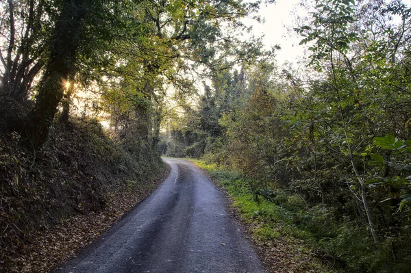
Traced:
<path fill-rule="evenodd" d="M 227 68 L 260 54 L 261 44 L 240 42 L 225 25 L 245 30 L 239 18 L 256 8 L 240 1 L 142 1 L 134 7 L 139 22 L 135 27 L 143 35 L 116 41 L 118 49 L 113 52 L 120 65 L 114 68 L 114 81 L 127 81 L 127 94 L 134 92 L 129 99 L 136 96 L 153 103 L 150 109 L 132 106 L 139 113 L 134 121 L 144 125 L 141 135 L 151 135 L 153 146 L 158 142 L 166 112 L 162 102 L 169 86 L 175 90 L 175 99 L 184 100 L 194 94 L 188 73 L 213 73 L 223 60 Z"/>

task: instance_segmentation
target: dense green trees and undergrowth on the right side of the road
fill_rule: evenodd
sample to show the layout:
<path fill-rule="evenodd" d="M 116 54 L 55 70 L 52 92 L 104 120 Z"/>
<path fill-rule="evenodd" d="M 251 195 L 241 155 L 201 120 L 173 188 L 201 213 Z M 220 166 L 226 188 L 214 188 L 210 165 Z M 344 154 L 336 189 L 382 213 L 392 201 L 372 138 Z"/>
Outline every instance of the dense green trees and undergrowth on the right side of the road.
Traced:
<path fill-rule="evenodd" d="M 409 272 L 410 19 L 401 1 L 315 1 L 295 26 L 303 70 L 270 58 L 214 70 L 160 151 L 239 172 L 230 187 L 286 209 L 340 270 Z"/>

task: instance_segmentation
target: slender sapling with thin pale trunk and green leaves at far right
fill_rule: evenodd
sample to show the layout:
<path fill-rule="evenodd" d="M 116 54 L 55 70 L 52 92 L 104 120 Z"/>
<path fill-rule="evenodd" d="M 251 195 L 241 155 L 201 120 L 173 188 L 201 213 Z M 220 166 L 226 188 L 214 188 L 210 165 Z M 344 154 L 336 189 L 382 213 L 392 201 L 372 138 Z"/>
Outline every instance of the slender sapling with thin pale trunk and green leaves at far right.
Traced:
<path fill-rule="evenodd" d="M 391 21 L 395 16 L 400 23 Z M 370 1 L 359 9 L 345 0 L 318 1 L 311 24 L 297 29 L 305 36 L 301 43 L 314 42 L 310 64 L 325 71 L 326 80 L 312 89 L 314 100 L 328 107 L 316 120 L 322 127 L 318 129 L 350 162 L 358 185 L 350 183 L 349 187 L 364 207 L 377 248 L 367 186 L 373 172 L 366 170 L 364 157 L 373 146 L 373 137 L 383 132 L 404 133 L 390 120 L 408 120 L 393 107 L 409 96 L 403 86 L 408 83 L 399 76 L 408 63 L 409 30 L 410 9 L 399 1 L 387 5 Z"/>

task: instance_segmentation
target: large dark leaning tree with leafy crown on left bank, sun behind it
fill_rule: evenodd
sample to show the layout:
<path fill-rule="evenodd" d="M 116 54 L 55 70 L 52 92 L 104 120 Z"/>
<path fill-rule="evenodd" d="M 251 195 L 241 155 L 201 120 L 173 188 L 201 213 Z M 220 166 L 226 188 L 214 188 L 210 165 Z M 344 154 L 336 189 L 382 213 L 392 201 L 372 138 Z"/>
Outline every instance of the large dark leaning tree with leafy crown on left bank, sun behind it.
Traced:
<path fill-rule="evenodd" d="M 126 14 L 121 8 L 127 8 L 128 3 L 64 0 L 53 6 L 58 14 L 47 46 L 47 63 L 38 83 L 36 103 L 25 125 L 25 137 L 35 148 L 41 148 L 47 140 L 64 91 L 68 86 L 73 88 L 71 81 L 76 75 L 95 77 L 86 70 L 96 70 L 102 63 L 107 64 L 102 59 L 110 49 L 110 42 L 125 29 L 123 16 Z M 109 29 L 108 22 L 112 24 Z"/>

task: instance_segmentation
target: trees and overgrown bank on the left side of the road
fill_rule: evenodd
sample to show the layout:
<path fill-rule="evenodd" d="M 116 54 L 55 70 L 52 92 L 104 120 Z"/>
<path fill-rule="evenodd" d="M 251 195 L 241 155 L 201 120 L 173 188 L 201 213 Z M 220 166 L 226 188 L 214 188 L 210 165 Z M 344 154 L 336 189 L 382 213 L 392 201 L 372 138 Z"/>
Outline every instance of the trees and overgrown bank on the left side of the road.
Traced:
<path fill-rule="evenodd" d="M 61 223 L 57 235 L 75 230 L 73 216 L 111 219 L 110 209 L 155 187 L 166 169 L 158 142 L 170 101 L 195 94 L 196 75 L 271 55 L 251 34 L 239 38 L 250 31 L 240 19 L 260 20 L 260 5 L 0 2 L 1 272 L 42 272 L 36 266 L 71 251 L 79 233 L 98 232 L 84 226 L 69 243 L 43 240 L 41 249 L 36 237 Z"/>

